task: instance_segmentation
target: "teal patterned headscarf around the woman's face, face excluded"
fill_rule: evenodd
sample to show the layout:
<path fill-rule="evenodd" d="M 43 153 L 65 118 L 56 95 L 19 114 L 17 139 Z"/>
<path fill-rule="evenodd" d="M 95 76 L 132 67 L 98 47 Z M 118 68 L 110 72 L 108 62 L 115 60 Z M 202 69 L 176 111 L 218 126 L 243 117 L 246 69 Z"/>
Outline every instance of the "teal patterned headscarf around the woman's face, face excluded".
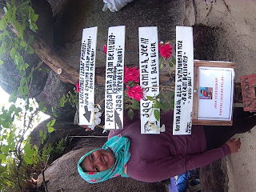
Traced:
<path fill-rule="evenodd" d="M 113 138 L 110 138 L 110 140 L 102 146 L 102 149 L 113 151 L 115 158 L 114 166 L 110 167 L 108 170 L 100 172 L 83 172 L 80 164 L 84 158 L 95 151 L 91 150 L 89 153 L 83 155 L 78 162 L 78 173 L 81 177 L 86 180 L 86 182 L 90 183 L 104 182 L 109 178 L 118 177 L 119 175 L 122 177 L 129 177 L 127 174 L 123 173 L 123 169 L 130 159 L 130 139 L 121 134 L 116 135 Z"/>

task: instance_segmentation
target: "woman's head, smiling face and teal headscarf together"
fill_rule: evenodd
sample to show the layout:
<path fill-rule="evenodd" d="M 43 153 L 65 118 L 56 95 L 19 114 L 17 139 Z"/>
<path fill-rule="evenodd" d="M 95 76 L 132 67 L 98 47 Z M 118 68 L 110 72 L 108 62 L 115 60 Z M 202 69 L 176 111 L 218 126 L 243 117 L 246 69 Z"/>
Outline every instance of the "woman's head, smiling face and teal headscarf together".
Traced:
<path fill-rule="evenodd" d="M 121 134 L 110 138 L 102 149 L 91 150 L 80 158 L 78 172 L 86 182 L 104 182 L 119 175 L 128 177 L 123 171 L 130 159 L 130 140 Z"/>

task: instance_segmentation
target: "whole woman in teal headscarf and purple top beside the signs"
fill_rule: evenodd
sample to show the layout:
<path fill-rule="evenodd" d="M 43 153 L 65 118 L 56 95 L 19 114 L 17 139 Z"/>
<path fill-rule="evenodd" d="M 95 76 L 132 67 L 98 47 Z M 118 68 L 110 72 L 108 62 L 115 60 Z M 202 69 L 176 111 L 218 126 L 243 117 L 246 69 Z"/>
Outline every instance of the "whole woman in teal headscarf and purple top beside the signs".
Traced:
<path fill-rule="evenodd" d="M 162 114 L 161 123 L 166 125 L 166 131 L 161 134 L 140 134 L 140 121 L 125 118 L 124 129 L 111 130 L 101 150 L 82 156 L 78 172 L 90 183 L 118 175 L 158 182 L 206 166 L 227 154 L 237 153 L 240 139 L 230 138 L 254 127 L 256 116 L 236 114 L 234 126 L 193 126 L 191 135 L 172 134 L 173 111 Z"/>

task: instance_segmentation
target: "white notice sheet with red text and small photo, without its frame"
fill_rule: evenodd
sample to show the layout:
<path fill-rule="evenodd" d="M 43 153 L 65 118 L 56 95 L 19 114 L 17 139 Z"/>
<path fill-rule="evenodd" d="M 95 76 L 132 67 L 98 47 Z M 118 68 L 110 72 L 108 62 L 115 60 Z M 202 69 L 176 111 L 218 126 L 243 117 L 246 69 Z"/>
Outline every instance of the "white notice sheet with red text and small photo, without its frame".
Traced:
<path fill-rule="evenodd" d="M 199 66 L 198 119 L 231 121 L 234 69 Z"/>

